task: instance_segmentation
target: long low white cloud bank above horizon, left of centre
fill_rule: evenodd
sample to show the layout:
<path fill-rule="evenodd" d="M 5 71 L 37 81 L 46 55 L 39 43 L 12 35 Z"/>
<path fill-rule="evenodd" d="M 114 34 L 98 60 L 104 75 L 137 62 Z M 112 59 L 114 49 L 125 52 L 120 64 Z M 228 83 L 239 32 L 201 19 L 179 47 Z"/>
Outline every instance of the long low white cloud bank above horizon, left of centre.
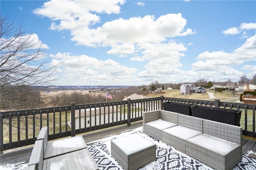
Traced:
<path fill-rule="evenodd" d="M 127 85 L 135 79 L 135 68 L 126 67 L 111 59 L 98 60 L 87 55 L 71 53 L 51 54 L 50 57 L 54 58 L 52 65 L 58 64 L 58 75 L 69 80 L 70 85 L 108 85 L 110 81 L 109 84 Z"/>

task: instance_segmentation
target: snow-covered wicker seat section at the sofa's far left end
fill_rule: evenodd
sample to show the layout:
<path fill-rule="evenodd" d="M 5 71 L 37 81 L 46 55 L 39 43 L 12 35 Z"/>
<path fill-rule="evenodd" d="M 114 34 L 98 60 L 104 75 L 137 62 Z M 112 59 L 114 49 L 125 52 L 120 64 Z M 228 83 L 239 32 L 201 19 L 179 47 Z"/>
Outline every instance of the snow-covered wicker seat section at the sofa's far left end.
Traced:
<path fill-rule="evenodd" d="M 177 126 L 177 124 L 163 121 L 158 119 L 156 121 L 148 122 L 144 124 L 144 132 L 153 138 L 162 140 L 162 130 L 170 127 Z"/>

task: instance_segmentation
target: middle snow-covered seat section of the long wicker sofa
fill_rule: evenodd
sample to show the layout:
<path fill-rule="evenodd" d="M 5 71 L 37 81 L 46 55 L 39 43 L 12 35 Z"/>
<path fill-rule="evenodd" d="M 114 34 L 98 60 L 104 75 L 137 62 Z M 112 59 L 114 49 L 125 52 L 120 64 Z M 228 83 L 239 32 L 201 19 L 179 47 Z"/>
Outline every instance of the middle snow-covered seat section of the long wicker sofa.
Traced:
<path fill-rule="evenodd" d="M 162 142 L 186 154 L 186 140 L 200 134 L 202 133 L 178 125 L 162 130 Z"/>

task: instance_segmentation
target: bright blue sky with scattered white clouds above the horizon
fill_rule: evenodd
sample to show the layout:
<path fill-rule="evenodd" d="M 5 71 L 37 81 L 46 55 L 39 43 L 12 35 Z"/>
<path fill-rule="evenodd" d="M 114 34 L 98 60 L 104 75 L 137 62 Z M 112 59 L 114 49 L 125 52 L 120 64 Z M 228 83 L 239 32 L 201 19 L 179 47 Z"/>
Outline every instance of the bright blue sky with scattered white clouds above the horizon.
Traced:
<path fill-rule="evenodd" d="M 1 0 L 56 65 L 52 85 L 239 81 L 256 73 L 256 1 Z"/>

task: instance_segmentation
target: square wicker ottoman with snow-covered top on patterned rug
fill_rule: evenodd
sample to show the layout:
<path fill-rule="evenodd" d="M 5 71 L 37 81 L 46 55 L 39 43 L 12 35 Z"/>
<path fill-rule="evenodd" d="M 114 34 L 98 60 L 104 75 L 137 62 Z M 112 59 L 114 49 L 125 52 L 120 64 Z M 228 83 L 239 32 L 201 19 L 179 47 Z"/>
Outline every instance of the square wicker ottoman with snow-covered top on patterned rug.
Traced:
<path fill-rule="evenodd" d="M 156 160 L 156 144 L 131 134 L 111 140 L 111 155 L 125 170 L 137 170 Z"/>

